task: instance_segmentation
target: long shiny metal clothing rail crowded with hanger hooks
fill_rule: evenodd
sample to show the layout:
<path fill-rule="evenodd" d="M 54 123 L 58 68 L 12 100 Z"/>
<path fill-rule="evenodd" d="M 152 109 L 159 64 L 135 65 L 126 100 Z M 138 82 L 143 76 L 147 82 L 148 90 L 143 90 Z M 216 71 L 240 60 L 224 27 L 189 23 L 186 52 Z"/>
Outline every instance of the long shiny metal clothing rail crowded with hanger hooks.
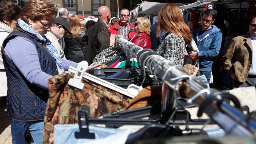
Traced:
<path fill-rule="evenodd" d="M 205 83 L 198 78 L 186 73 L 182 67 L 159 56 L 158 53 L 135 46 L 133 43 L 117 36 L 117 45 L 122 47 L 127 57 L 136 58 L 141 69 L 147 71 L 156 79 L 163 81 L 173 94 L 171 97 L 162 97 L 162 109 L 175 109 L 176 98 L 181 96 L 187 99 L 187 103 L 193 102 L 199 107 L 205 105 L 204 111 L 228 134 L 239 136 L 253 136 L 256 132 L 256 122 L 244 115 L 225 101 L 218 102 L 221 95 L 218 90 L 208 89 Z M 212 99 L 212 98 L 215 99 Z M 205 101 L 212 99 L 208 103 Z M 240 104 L 239 104 L 240 105 Z M 199 115 L 200 116 L 200 115 Z"/>

